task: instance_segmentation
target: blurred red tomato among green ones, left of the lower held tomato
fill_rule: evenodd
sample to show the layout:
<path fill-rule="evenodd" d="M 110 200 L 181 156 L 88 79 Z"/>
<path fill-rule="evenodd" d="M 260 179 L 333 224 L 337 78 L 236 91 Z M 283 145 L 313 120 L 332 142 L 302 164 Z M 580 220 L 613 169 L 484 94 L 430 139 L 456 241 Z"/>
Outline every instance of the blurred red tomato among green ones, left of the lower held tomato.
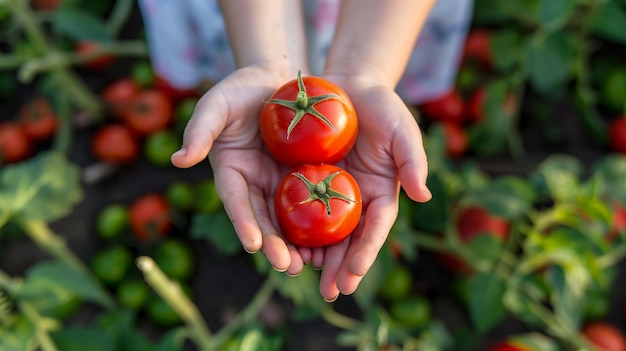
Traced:
<path fill-rule="evenodd" d="M 133 233 L 143 241 L 163 237 L 172 228 L 170 204 L 161 194 L 151 193 L 135 199 L 128 216 Z"/>

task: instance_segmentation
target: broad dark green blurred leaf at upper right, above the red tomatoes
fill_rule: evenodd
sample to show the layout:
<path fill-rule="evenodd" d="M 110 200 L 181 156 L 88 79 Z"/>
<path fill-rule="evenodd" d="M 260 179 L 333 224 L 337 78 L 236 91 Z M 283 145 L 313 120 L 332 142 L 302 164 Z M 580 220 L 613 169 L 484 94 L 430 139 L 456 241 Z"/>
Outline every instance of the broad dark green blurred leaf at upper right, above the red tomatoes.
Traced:
<path fill-rule="evenodd" d="M 573 77 L 574 41 L 563 31 L 542 34 L 526 45 L 528 77 L 539 93 L 553 94 Z"/>

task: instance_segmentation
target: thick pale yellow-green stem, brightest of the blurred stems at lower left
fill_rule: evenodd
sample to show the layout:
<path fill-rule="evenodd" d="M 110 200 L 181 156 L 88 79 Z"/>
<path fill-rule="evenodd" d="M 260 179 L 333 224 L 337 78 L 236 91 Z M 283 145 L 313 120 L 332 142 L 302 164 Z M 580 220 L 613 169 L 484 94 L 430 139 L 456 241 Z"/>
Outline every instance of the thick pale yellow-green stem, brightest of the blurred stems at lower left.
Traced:
<path fill-rule="evenodd" d="M 200 350 L 211 350 L 211 331 L 180 284 L 169 279 L 150 257 L 137 258 L 137 267 L 142 271 L 146 282 L 185 322 L 196 346 Z"/>

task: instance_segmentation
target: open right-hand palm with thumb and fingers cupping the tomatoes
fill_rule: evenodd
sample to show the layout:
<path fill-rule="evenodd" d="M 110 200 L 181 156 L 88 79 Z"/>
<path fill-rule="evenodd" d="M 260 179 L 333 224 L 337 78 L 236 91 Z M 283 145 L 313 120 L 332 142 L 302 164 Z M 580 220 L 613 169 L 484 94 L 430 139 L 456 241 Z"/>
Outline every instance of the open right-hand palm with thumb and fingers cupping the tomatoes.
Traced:
<path fill-rule="evenodd" d="M 366 77 L 324 77 L 346 90 L 359 119 L 359 136 L 342 167 L 359 182 L 363 220 L 344 242 L 299 248 L 304 263 L 322 268 L 320 293 L 327 301 L 351 294 L 374 263 L 398 213 L 400 185 L 414 201 L 426 202 L 427 160 L 420 129 L 404 102 Z"/>

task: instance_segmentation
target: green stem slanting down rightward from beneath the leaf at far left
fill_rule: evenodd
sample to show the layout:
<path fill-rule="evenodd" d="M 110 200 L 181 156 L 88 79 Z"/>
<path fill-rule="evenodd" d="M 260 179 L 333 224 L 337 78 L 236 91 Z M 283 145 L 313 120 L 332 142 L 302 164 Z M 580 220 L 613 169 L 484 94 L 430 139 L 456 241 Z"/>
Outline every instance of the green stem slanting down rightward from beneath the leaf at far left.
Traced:
<path fill-rule="evenodd" d="M 26 234 L 37 244 L 37 246 L 69 267 L 85 274 L 85 276 L 91 279 L 96 286 L 101 288 L 102 295 L 106 298 L 104 301 L 105 307 L 108 309 L 115 308 L 114 299 L 111 297 L 109 292 L 102 287 L 102 284 L 100 284 L 97 279 L 93 277 L 89 268 L 86 267 L 78 257 L 76 257 L 76 255 L 67 247 L 65 241 L 56 235 L 46 222 L 21 217 L 16 218 Z"/>

